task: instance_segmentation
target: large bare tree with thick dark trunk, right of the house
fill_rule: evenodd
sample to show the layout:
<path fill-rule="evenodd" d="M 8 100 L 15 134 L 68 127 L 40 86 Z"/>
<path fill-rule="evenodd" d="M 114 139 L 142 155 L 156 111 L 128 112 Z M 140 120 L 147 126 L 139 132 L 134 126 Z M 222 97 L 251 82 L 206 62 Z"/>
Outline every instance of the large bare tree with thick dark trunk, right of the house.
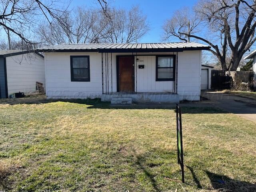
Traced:
<path fill-rule="evenodd" d="M 256 41 L 255 14 L 256 0 L 200 0 L 192 12 L 177 11 L 165 22 L 164 39 L 207 43 L 222 69 L 233 71 Z"/>

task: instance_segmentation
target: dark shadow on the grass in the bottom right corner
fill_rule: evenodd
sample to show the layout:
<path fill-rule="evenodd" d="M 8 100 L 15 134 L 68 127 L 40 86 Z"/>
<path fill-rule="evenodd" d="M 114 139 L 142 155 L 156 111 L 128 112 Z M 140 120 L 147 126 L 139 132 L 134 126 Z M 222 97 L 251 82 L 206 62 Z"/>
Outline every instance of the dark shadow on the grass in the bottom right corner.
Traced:
<path fill-rule="evenodd" d="M 209 171 L 206 171 L 208 175 L 212 187 L 216 190 L 222 191 L 233 191 L 233 192 L 255 192 L 256 191 L 256 184 L 231 179 L 224 175 L 218 175 Z"/>

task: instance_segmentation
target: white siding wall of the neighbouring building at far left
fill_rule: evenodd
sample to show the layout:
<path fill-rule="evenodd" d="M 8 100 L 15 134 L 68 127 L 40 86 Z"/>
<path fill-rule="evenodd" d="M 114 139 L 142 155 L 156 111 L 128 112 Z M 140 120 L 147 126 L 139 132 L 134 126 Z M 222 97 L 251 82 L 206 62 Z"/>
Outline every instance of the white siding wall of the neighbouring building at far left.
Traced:
<path fill-rule="evenodd" d="M 44 58 L 35 53 L 6 57 L 8 95 L 33 92 L 36 81 L 45 84 Z"/>

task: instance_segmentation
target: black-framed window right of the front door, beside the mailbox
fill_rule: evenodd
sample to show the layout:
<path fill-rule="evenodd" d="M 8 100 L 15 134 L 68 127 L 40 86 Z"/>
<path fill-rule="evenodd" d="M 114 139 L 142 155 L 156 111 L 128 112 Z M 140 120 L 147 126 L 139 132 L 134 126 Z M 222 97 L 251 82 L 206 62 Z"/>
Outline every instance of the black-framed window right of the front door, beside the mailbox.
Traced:
<path fill-rule="evenodd" d="M 173 81 L 175 56 L 156 56 L 156 81 Z"/>

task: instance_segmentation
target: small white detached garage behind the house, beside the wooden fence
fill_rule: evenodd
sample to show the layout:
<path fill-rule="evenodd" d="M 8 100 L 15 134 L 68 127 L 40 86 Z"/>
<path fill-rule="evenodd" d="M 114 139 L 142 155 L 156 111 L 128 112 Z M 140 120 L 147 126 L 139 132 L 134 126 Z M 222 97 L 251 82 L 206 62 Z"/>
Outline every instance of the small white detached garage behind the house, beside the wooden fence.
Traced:
<path fill-rule="evenodd" d="M 201 90 L 206 90 L 211 88 L 212 81 L 212 66 L 202 65 L 201 69 Z"/>

